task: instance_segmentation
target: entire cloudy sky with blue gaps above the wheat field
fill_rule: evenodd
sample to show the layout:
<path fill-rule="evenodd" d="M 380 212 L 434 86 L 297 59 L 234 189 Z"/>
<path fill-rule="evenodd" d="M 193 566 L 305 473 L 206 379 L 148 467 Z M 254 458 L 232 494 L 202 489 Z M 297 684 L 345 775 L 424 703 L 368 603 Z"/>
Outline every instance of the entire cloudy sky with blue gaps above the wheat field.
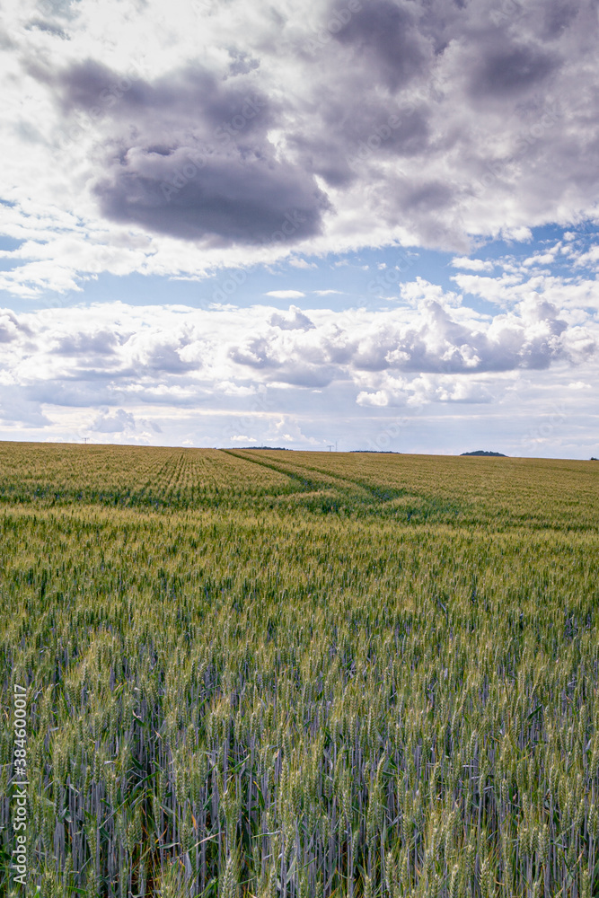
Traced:
<path fill-rule="evenodd" d="M 599 455 L 598 0 L 7 0 L 0 439 Z"/>

